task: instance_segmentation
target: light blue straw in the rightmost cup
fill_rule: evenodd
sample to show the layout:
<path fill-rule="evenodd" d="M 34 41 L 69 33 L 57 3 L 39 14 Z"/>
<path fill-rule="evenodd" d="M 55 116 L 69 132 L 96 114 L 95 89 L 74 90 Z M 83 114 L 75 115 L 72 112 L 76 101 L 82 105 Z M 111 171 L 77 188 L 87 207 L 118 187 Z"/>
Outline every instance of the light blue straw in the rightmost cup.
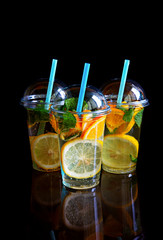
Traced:
<path fill-rule="evenodd" d="M 129 64 L 130 64 L 130 60 L 125 60 L 124 66 L 123 66 L 122 77 L 121 77 L 121 83 L 120 83 L 119 92 L 118 92 L 118 98 L 117 98 L 117 103 L 119 103 L 119 104 L 122 102 Z"/>

